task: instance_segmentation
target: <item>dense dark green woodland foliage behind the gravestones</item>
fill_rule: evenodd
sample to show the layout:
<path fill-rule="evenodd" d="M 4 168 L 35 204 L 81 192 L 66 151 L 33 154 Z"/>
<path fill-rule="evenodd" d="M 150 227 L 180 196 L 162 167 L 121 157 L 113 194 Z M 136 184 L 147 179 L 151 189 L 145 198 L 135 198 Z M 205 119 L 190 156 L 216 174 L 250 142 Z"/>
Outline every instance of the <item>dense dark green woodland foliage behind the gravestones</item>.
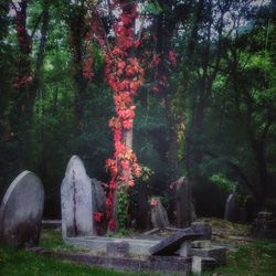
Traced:
<path fill-rule="evenodd" d="M 45 187 L 51 217 L 59 215 L 72 155 L 91 177 L 108 180 L 113 95 L 97 42 L 92 82 L 82 75 L 85 1 L 18 2 L 26 4 L 32 50 L 20 47 L 12 1 L 0 0 L 0 199 L 22 169 L 32 170 Z M 153 173 L 139 185 L 147 182 L 147 194 L 171 204 L 169 183 L 184 174 L 199 214 L 221 216 L 234 190 L 243 206 L 254 205 L 247 219 L 262 208 L 276 210 L 275 1 L 142 2 L 145 82 L 135 98 L 134 148 Z M 102 17 L 112 38 L 113 17 Z M 155 68 L 148 53 L 160 57 Z M 15 75 L 29 72 L 32 83 L 14 87 Z"/>

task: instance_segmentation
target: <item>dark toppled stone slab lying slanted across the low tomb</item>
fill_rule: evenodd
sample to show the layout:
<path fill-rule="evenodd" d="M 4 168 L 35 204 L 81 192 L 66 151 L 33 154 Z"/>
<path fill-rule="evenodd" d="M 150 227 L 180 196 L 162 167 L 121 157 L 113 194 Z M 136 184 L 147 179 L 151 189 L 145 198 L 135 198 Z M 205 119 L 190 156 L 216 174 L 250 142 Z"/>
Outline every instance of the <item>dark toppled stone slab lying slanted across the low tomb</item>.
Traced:
<path fill-rule="evenodd" d="M 198 238 L 211 238 L 212 230 L 209 224 L 194 224 L 188 229 L 178 230 L 177 233 L 162 240 L 157 245 L 149 248 L 151 255 L 173 255 L 182 243 Z"/>

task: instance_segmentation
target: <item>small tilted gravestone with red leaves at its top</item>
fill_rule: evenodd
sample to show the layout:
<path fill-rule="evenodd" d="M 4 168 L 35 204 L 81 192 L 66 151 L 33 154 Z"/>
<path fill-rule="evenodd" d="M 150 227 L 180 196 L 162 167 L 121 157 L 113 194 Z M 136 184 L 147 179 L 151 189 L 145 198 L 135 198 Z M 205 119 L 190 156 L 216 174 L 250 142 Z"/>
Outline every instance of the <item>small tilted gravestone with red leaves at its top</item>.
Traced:
<path fill-rule="evenodd" d="M 163 208 L 160 198 L 155 198 L 153 201 L 155 204 L 151 205 L 151 212 L 150 212 L 152 227 L 164 229 L 170 224 L 167 211 Z"/>

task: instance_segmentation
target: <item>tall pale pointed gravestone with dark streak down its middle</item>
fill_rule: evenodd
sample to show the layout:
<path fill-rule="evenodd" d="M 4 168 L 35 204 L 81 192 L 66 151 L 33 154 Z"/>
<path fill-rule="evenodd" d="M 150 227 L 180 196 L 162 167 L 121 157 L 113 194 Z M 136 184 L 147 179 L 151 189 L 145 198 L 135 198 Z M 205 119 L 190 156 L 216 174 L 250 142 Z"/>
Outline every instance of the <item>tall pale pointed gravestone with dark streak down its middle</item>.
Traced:
<path fill-rule="evenodd" d="M 87 236 L 94 234 L 93 195 L 91 179 L 83 161 L 73 156 L 67 164 L 61 187 L 62 235 Z"/>

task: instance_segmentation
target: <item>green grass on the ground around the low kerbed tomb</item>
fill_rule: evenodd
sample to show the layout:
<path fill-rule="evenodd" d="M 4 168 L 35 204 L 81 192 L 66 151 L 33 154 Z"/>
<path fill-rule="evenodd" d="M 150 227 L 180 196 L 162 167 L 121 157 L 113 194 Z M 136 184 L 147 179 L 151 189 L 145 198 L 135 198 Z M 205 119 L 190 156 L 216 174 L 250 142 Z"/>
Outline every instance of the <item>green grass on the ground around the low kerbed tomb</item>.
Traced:
<path fill-rule="evenodd" d="M 238 230 L 245 233 L 243 226 L 232 224 L 223 224 L 223 222 L 212 221 L 214 231 L 225 229 L 225 233 L 235 235 Z M 230 231 L 233 231 L 229 233 Z M 214 236 L 217 238 L 216 236 Z M 219 235 L 221 237 L 221 234 Z M 222 240 L 225 241 L 225 237 Z M 220 240 L 220 238 L 219 238 Z M 212 272 L 205 272 L 204 276 L 212 275 L 237 275 L 237 276 L 276 276 L 276 241 L 255 241 L 253 243 L 236 243 L 236 241 L 226 241 L 234 243 L 237 247 L 236 252 L 229 254 L 226 266 L 219 267 Z M 75 251 L 65 246 L 61 240 L 60 231 L 47 230 L 42 232 L 42 247 L 56 251 Z M 32 252 L 15 251 L 11 248 L 0 247 L 0 276 L 160 276 L 161 273 L 123 273 L 113 269 L 98 267 L 89 267 L 76 265 L 68 262 L 38 257 Z M 176 274 L 167 274 L 176 275 Z"/>

